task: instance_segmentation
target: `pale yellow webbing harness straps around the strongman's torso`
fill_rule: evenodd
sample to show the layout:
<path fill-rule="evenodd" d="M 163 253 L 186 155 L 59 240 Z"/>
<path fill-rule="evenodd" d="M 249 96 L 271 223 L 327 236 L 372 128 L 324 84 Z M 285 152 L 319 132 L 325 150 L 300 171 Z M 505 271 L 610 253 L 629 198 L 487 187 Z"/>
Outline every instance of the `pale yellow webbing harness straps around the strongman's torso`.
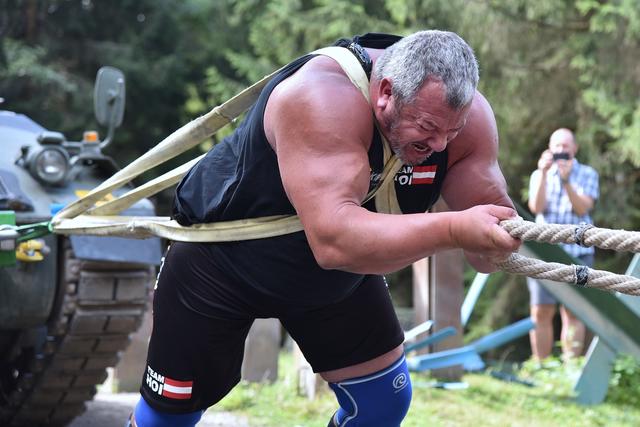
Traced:
<path fill-rule="evenodd" d="M 367 102 L 369 81 L 358 60 L 342 47 L 326 47 L 313 54 L 333 58 L 360 89 Z M 296 215 L 277 215 L 237 221 L 197 224 L 184 227 L 169 217 L 127 217 L 115 214 L 133 205 L 138 200 L 168 188 L 182 179 L 188 170 L 203 156 L 185 163 L 164 175 L 100 206 L 94 204 L 114 189 L 120 188 L 147 170 L 169 160 L 199 144 L 213 135 L 248 109 L 258 98 L 261 90 L 276 75 L 275 71 L 259 82 L 240 92 L 225 103 L 215 107 L 182 128 L 173 132 L 127 167 L 91 190 L 85 197 L 62 209 L 51 221 L 51 228 L 58 234 L 87 234 L 99 236 L 121 236 L 132 238 L 164 237 L 170 240 L 189 242 L 222 242 L 258 239 L 301 231 L 302 224 Z M 369 192 L 365 201 L 376 197 L 378 212 L 401 213 L 395 197 L 394 177 L 402 166 L 392 156 L 383 139 L 385 166 L 380 186 Z"/>

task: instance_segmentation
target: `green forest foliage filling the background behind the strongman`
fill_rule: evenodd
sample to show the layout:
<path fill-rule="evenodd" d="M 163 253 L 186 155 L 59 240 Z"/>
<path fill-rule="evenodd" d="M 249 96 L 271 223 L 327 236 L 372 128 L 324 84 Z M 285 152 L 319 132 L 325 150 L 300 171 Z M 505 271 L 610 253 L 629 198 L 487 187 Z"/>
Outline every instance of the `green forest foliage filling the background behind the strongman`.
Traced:
<path fill-rule="evenodd" d="M 126 164 L 311 49 L 353 34 L 426 28 L 455 31 L 475 49 L 514 200 L 526 203 L 529 174 L 550 133 L 569 127 L 580 161 L 600 172 L 596 223 L 640 229 L 636 0 L 0 0 L 1 107 L 77 140 L 97 127 L 97 69 L 119 67 L 127 111 L 108 152 Z M 159 196 L 165 213 L 170 198 Z M 597 255 L 599 268 L 617 272 L 628 261 Z M 513 295 L 526 301 L 526 288 L 510 280 L 490 287 L 491 304 L 477 314 L 484 329 L 521 315 Z M 494 301 L 502 301 L 497 309 Z"/>

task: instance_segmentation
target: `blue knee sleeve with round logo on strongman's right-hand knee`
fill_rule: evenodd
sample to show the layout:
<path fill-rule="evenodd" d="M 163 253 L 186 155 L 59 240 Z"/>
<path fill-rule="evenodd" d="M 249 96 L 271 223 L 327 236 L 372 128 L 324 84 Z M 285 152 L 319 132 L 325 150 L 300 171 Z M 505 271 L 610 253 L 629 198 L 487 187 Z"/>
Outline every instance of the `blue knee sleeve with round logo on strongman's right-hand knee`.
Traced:
<path fill-rule="evenodd" d="M 329 386 L 340 404 L 330 426 L 399 427 L 411 403 L 411 380 L 404 355 L 382 371 Z"/>

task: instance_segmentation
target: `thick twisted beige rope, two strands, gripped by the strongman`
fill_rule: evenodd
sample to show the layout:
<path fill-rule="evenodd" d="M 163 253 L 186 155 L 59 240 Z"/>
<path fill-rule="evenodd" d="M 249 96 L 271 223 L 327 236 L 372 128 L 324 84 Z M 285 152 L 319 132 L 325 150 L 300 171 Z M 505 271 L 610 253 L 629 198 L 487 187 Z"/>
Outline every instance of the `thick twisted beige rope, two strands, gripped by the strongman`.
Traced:
<path fill-rule="evenodd" d="M 608 230 L 589 224 L 537 224 L 523 220 L 506 220 L 500 223 L 512 237 L 546 243 L 575 243 L 597 246 L 617 251 L 640 252 L 640 233 L 636 231 Z M 496 267 L 513 274 L 571 283 L 581 287 L 609 292 L 640 295 L 640 279 L 594 270 L 584 265 L 565 265 L 511 254 Z"/>

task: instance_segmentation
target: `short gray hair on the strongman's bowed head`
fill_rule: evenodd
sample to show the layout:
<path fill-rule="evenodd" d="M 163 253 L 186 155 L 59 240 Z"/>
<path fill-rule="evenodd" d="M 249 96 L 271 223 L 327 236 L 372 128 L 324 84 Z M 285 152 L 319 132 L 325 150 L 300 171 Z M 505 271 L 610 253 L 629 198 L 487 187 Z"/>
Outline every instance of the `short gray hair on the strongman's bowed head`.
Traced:
<path fill-rule="evenodd" d="M 402 106 L 413 102 L 429 79 L 442 81 L 449 106 L 459 110 L 473 100 L 478 63 L 471 47 L 449 31 L 420 31 L 385 49 L 373 75 L 391 79 L 393 95 Z"/>

